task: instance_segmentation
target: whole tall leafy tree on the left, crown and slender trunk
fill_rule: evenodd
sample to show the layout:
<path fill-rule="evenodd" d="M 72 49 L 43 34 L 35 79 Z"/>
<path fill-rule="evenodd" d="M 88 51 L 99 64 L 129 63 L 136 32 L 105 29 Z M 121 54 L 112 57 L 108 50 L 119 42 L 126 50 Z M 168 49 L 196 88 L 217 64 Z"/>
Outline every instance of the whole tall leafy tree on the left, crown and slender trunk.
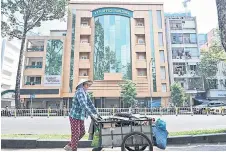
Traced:
<path fill-rule="evenodd" d="M 1 21 L 2 37 L 21 40 L 19 63 L 16 76 L 15 106 L 20 103 L 20 80 L 26 35 L 42 21 L 61 19 L 66 14 L 67 0 L 2 0 L 1 13 L 6 21 Z"/>

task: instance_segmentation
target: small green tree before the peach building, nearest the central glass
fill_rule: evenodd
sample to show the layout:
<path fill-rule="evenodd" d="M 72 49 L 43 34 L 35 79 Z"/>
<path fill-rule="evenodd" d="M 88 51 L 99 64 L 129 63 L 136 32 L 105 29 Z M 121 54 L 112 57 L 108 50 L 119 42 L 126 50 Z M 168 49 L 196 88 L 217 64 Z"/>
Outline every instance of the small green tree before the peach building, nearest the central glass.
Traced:
<path fill-rule="evenodd" d="M 121 98 L 122 102 L 129 104 L 129 106 L 133 106 L 136 104 L 136 84 L 133 83 L 131 80 L 124 80 L 124 83 L 119 84 L 121 87 Z"/>

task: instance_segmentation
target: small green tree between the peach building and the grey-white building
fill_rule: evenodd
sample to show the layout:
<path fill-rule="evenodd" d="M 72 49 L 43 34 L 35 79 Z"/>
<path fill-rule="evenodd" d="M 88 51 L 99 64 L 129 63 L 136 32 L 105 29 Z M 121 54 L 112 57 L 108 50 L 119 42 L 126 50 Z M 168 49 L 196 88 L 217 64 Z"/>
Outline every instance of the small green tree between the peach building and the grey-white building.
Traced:
<path fill-rule="evenodd" d="M 171 85 L 171 99 L 172 103 L 177 107 L 182 106 L 186 100 L 184 89 L 177 82 Z"/>

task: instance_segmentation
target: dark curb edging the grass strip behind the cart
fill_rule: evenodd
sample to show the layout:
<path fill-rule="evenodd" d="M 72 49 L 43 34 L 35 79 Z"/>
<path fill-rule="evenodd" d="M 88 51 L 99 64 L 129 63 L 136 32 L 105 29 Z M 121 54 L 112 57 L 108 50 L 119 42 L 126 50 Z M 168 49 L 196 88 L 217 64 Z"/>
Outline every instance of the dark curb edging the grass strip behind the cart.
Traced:
<path fill-rule="evenodd" d="M 226 133 L 169 137 L 168 145 L 226 142 Z M 1 139 L 2 148 L 63 148 L 68 140 Z M 91 148 L 91 140 L 79 141 L 79 148 Z"/>

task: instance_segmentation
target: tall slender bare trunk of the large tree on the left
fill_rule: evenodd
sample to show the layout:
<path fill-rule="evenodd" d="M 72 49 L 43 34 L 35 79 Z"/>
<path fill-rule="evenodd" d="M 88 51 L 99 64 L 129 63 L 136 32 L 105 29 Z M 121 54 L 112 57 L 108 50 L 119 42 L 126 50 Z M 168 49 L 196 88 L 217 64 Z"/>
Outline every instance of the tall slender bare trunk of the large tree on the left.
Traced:
<path fill-rule="evenodd" d="M 24 44 L 25 44 L 26 34 L 23 35 L 21 47 L 20 47 L 20 56 L 19 56 L 19 63 L 16 75 L 16 87 L 15 87 L 15 107 L 18 109 L 20 108 L 20 80 L 21 80 L 21 70 L 22 70 L 22 63 L 23 63 L 23 51 L 24 51 Z"/>

